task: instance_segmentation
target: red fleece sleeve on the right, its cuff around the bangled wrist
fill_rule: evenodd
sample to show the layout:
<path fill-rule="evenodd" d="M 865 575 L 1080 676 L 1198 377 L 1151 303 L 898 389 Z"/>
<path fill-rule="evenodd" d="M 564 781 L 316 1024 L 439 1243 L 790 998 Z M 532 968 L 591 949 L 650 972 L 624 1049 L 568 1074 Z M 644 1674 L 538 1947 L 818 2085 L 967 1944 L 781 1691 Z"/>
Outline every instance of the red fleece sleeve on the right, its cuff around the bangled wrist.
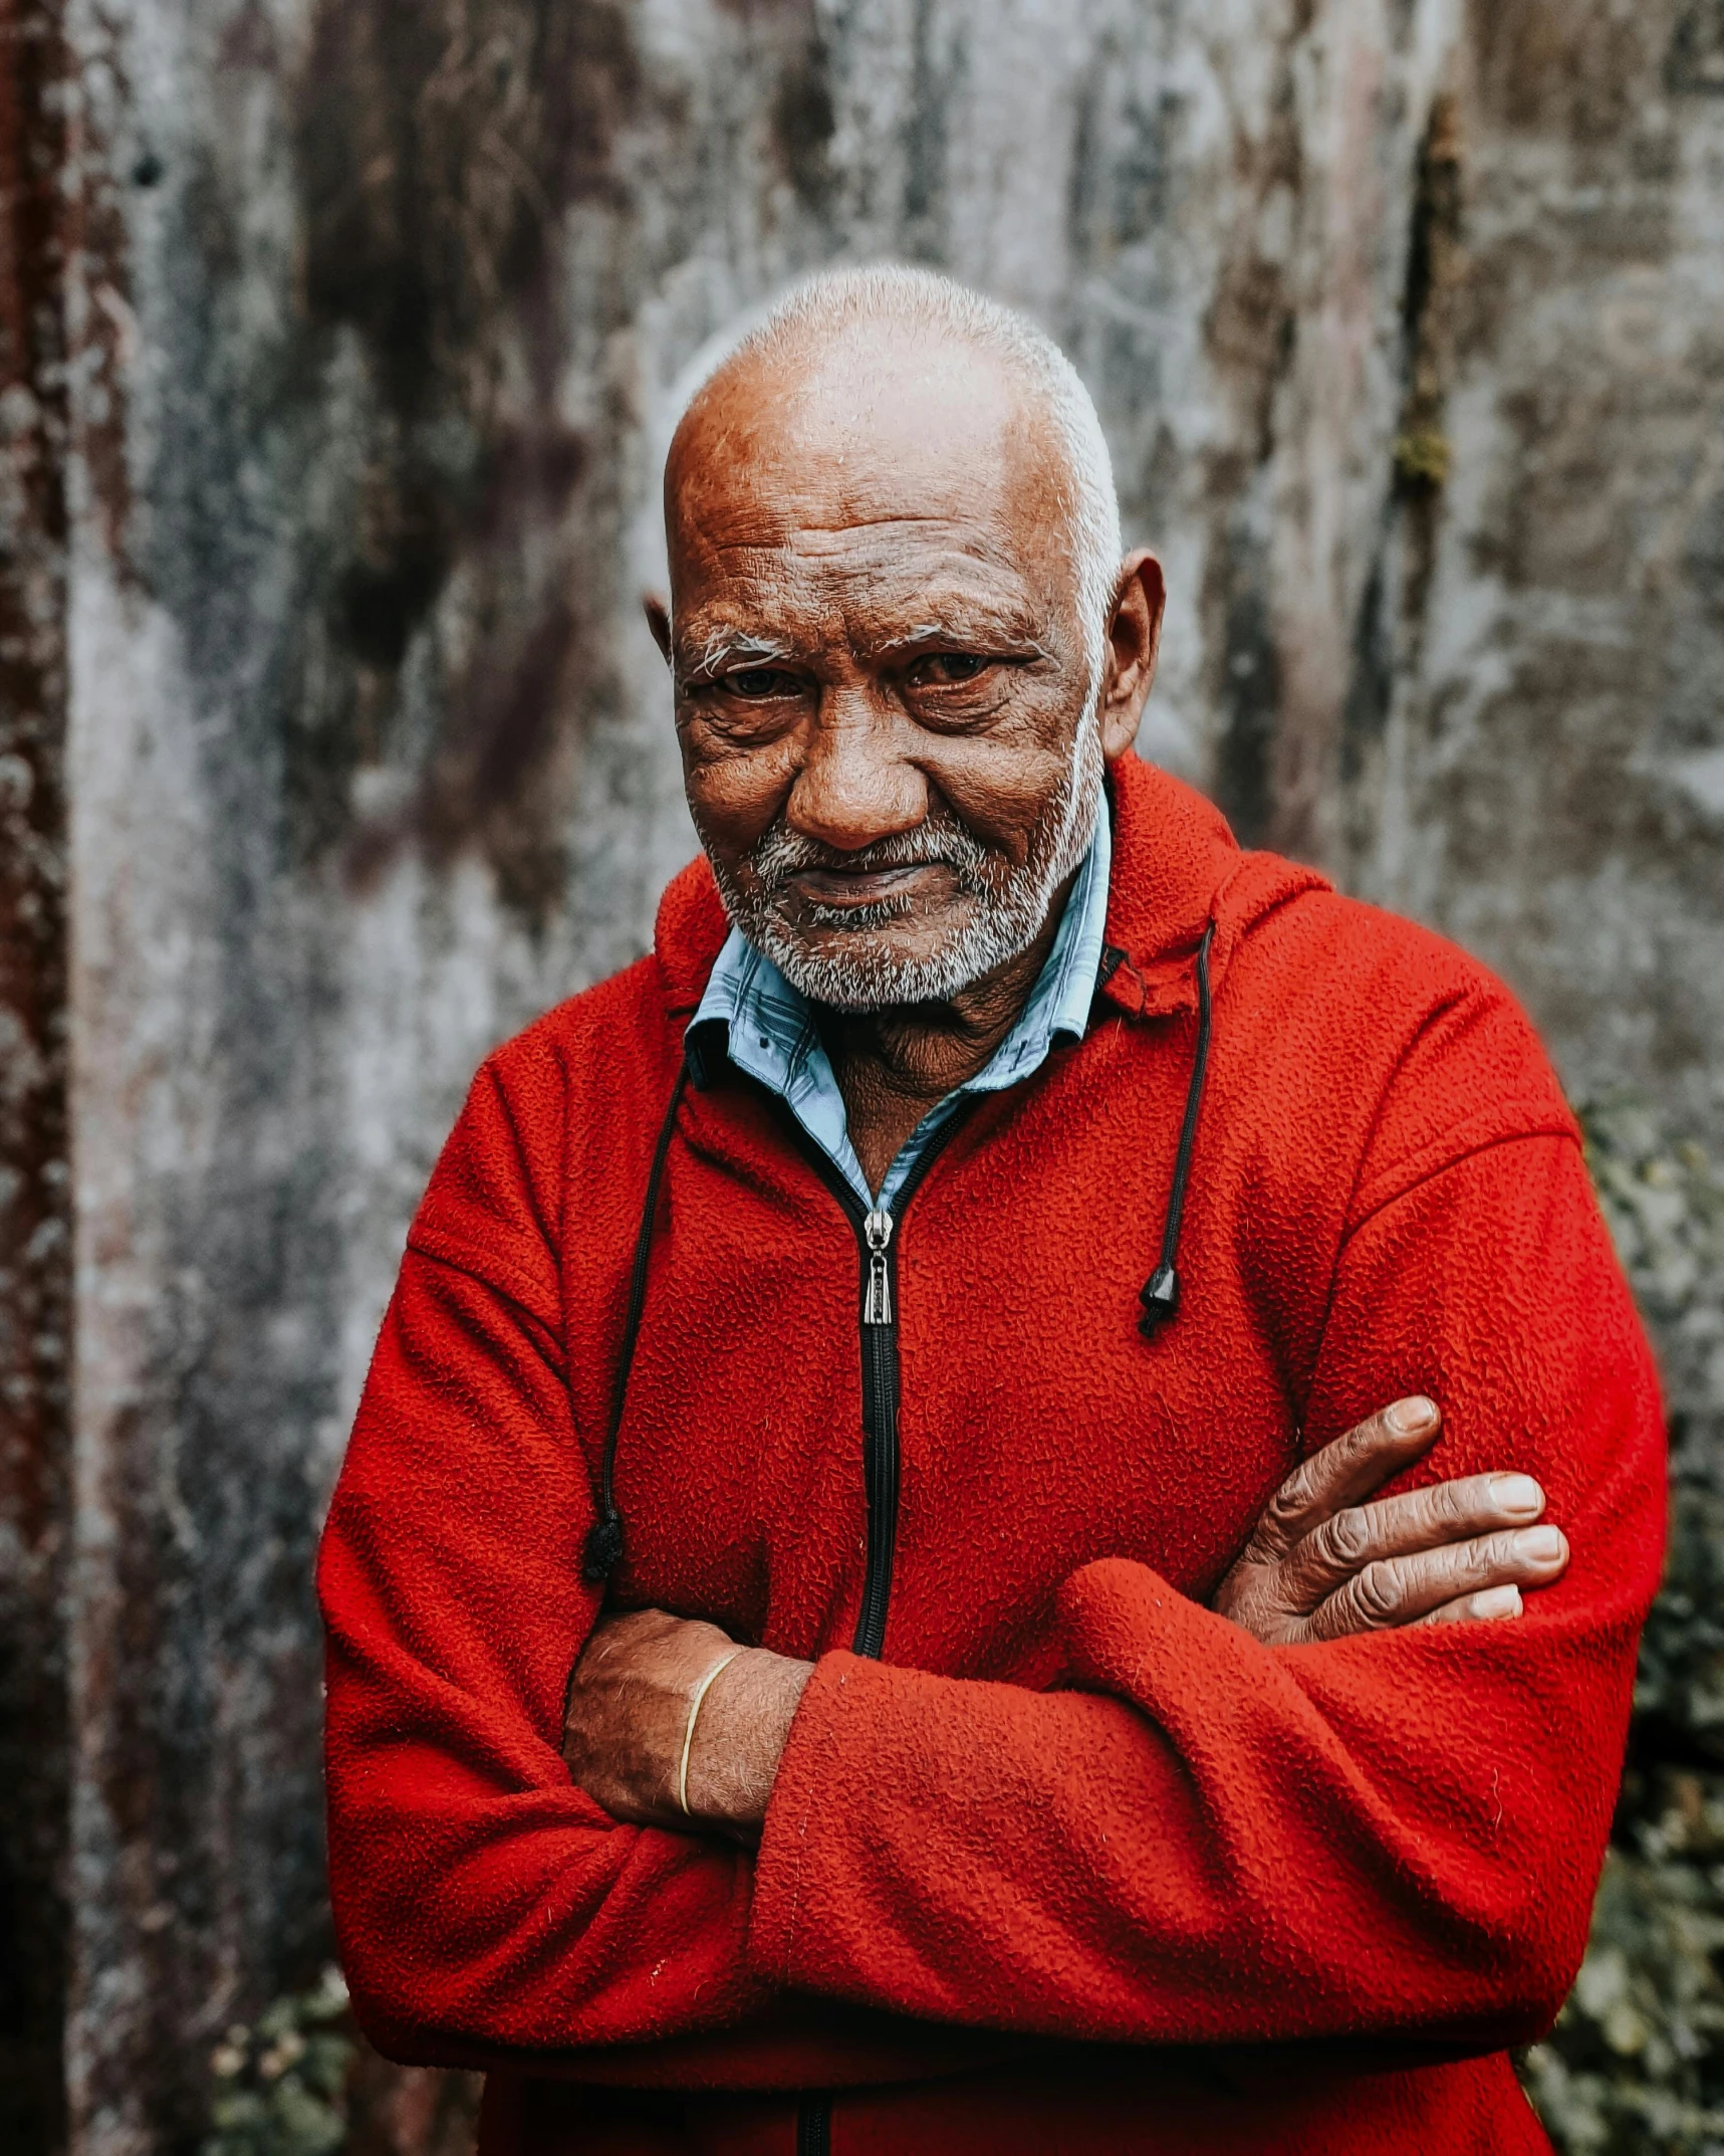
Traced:
<path fill-rule="evenodd" d="M 1517 1621 L 1267 1649 L 1146 1567 L 1067 1580 L 1069 1686 L 825 1656 L 752 1910 L 771 1975 L 1127 2040 L 1539 2033 L 1580 1962 L 1662 1546 L 1651 1358 L 1571 1136 L 1360 1218 L 1310 1442 L 1412 1391 L 1416 1479 L 1524 1466 L 1573 1544 Z"/>

